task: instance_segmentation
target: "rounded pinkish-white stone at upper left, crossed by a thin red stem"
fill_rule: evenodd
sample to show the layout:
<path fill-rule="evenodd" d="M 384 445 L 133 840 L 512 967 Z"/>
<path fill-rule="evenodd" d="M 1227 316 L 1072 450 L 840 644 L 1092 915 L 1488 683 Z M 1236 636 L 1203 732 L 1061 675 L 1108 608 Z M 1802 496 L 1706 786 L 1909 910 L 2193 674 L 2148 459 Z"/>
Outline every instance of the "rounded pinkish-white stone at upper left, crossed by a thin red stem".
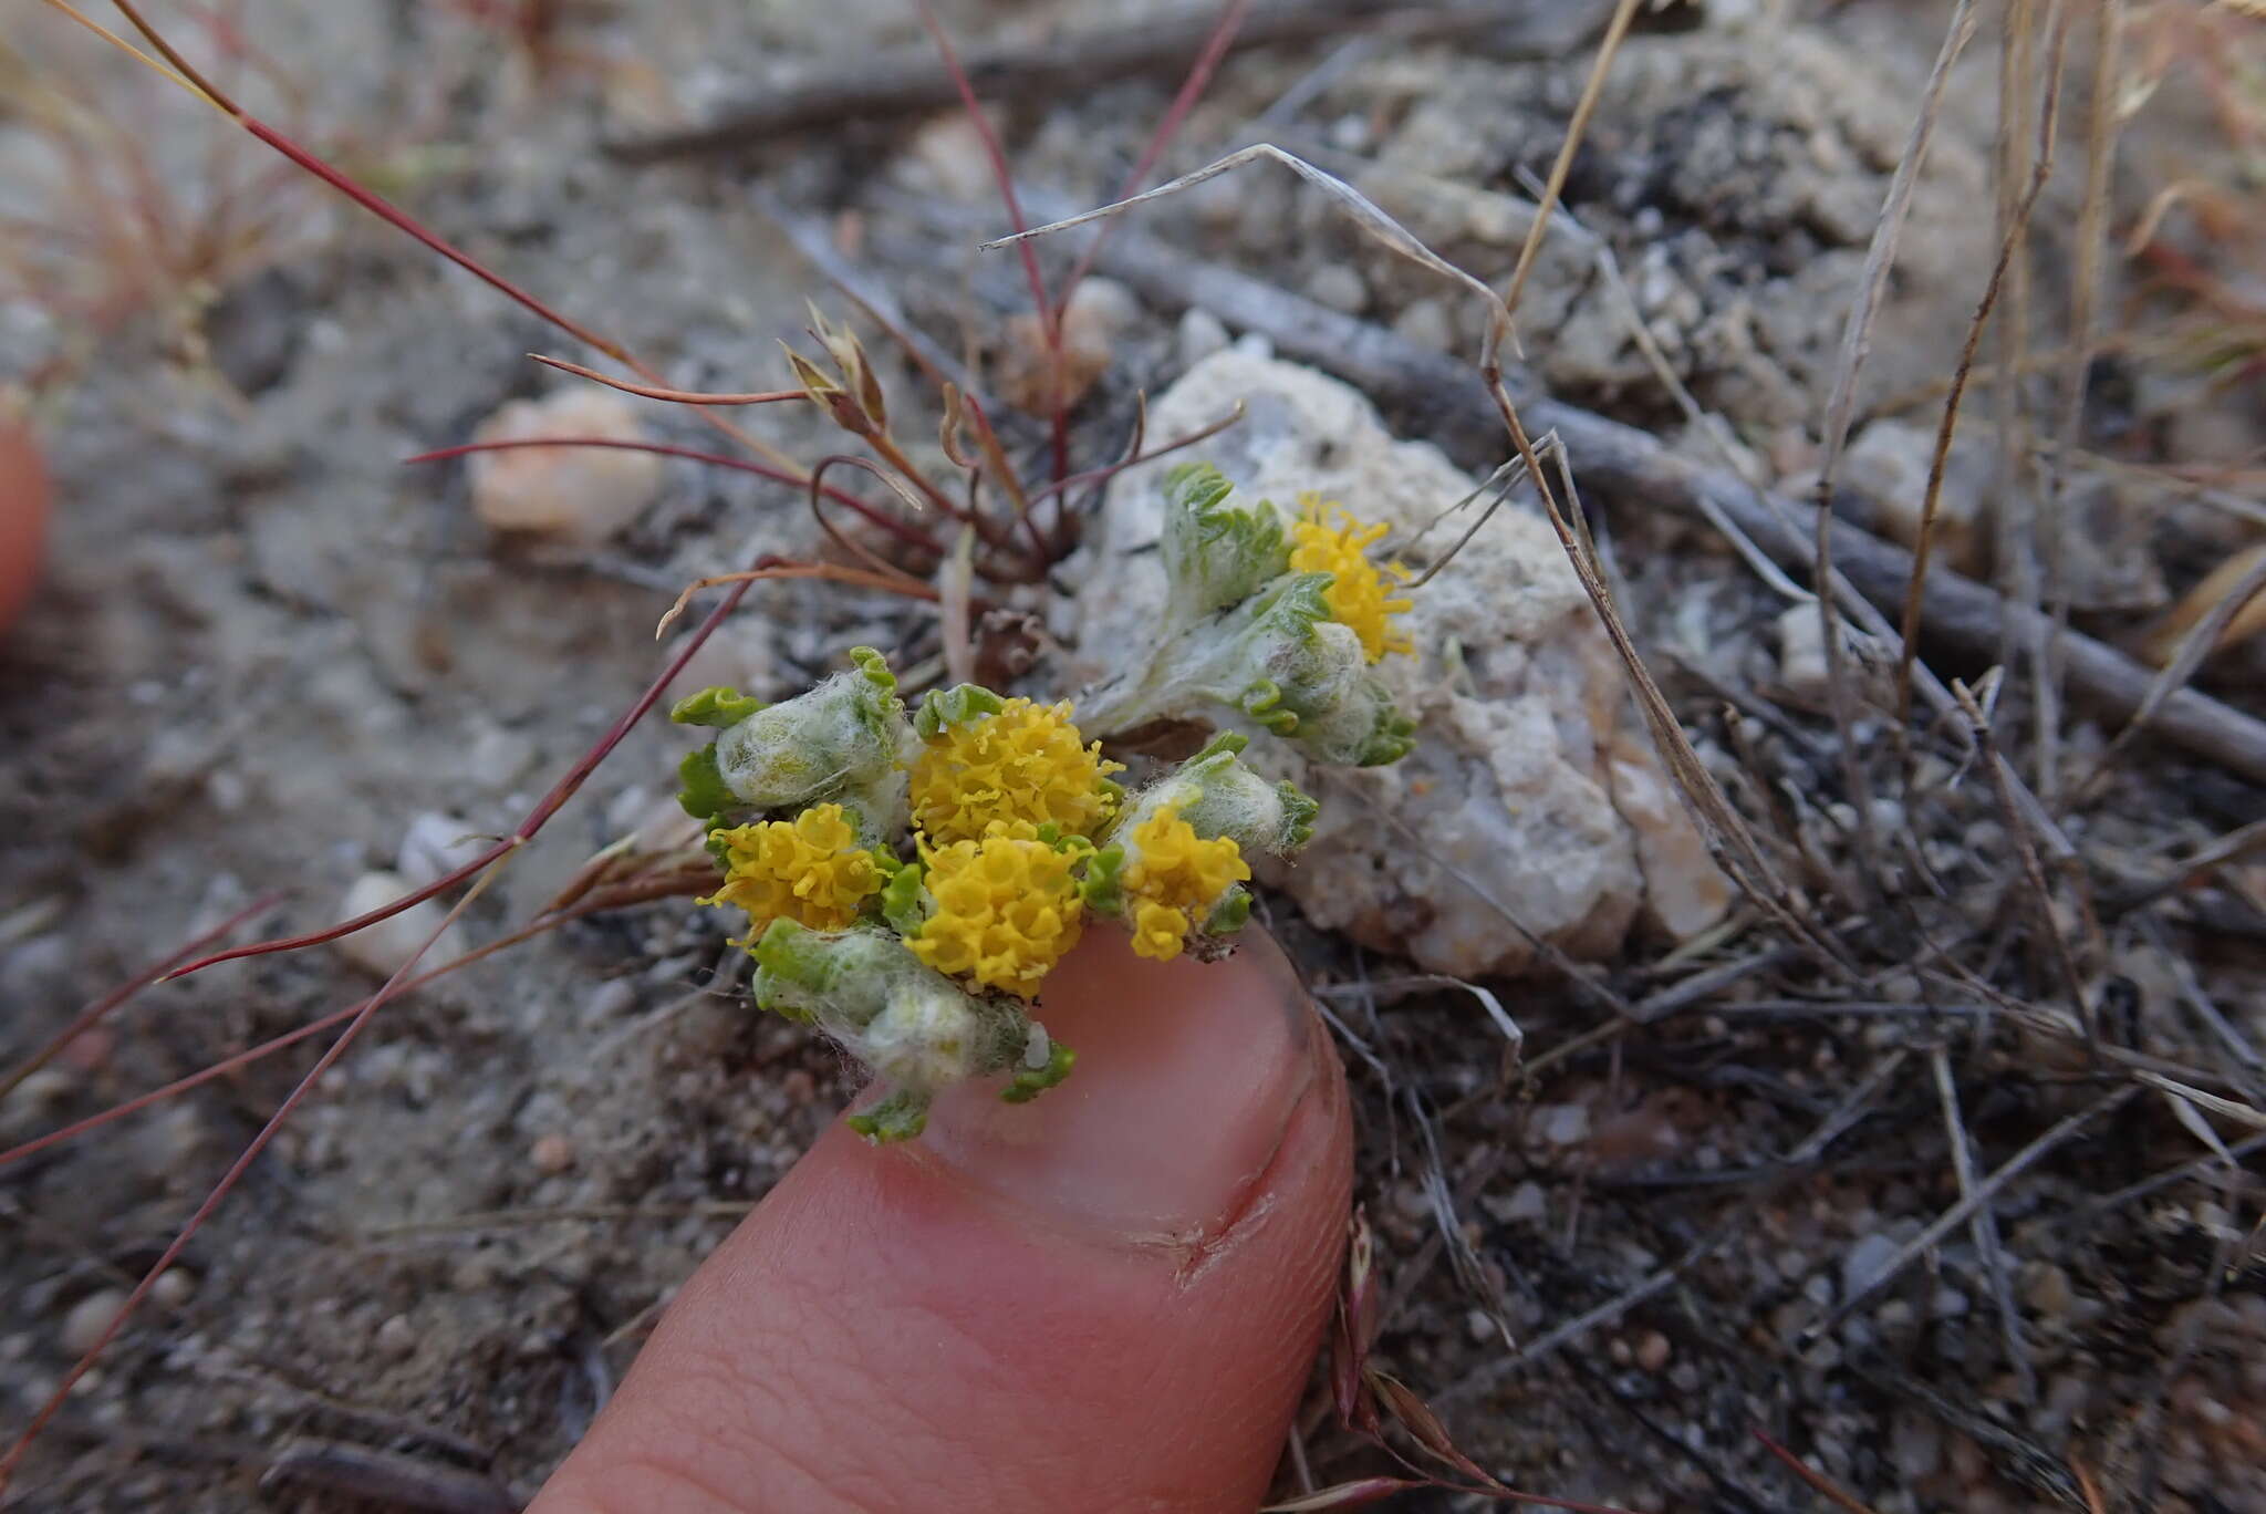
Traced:
<path fill-rule="evenodd" d="M 474 442 L 603 437 L 644 442 L 632 401 L 591 383 L 544 399 L 514 399 L 480 422 Z M 471 453 L 471 508 L 496 530 L 526 530 L 582 546 L 605 542 L 662 492 L 662 460 L 616 446 L 523 446 Z"/>

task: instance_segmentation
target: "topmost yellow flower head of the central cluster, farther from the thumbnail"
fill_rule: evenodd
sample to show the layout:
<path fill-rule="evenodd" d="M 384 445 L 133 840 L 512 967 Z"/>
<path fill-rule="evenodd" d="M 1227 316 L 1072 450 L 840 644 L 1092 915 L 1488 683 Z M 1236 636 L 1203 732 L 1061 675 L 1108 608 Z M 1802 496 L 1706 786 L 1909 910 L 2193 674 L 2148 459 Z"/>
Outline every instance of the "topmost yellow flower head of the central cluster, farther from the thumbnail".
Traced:
<path fill-rule="evenodd" d="M 990 698 L 990 696 L 986 696 Z M 1090 836 L 1117 809 L 1108 782 L 1124 764 L 1083 746 L 1070 700 L 999 703 L 972 721 L 943 723 L 913 764 L 913 820 L 934 841 L 977 841 L 995 820 L 1056 825 Z"/>

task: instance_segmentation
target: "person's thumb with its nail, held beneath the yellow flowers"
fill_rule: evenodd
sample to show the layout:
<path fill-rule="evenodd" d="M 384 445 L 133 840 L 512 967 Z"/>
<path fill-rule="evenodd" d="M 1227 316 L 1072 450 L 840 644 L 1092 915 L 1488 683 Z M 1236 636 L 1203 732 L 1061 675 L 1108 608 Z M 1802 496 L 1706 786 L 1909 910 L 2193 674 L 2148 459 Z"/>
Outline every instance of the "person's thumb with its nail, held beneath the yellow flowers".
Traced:
<path fill-rule="evenodd" d="M 1262 938 L 1199 966 L 1108 934 L 1047 990 L 1079 1072 L 954 1090 L 906 1147 L 836 1124 L 530 1514 L 1260 1503 L 1344 1253 L 1335 1049 Z"/>

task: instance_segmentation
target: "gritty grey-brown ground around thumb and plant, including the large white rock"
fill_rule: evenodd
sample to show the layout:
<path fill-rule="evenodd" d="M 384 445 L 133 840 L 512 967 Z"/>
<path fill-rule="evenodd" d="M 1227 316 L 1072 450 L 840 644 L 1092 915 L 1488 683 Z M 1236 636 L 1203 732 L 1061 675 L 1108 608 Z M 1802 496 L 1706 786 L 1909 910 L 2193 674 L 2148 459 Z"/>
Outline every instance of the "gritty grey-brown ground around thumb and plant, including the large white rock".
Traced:
<path fill-rule="evenodd" d="M 258 45 L 231 79 L 256 109 L 671 383 L 784 381 L 775 338 L 800 335 L 802 301 L 845 311 L 791 236 L 816 231 L 945 360 L 974 349 L 977 378 L 1017 392 L 1024 295 L 1008 254 L 972 252 L 999 211 L 952 113 L 838 122 L 727 161 L 632 168 L 598 150 L 705 118 L 766 70 L 825 61 L 845 16 L 875 43 L 918 43 L 897 5 L 825 18 L 566 5 L 535 41 L 440 2 L 252 9 L 272 25 L 247 29 Z M 1632 36 L 1566 184 L 1577 227 L 1543 243 L 1520 333 L 1525 372 L 1557 399 L 1715 460 L 1666 367 L 1727 422 L 1736 462 L 1799 490 L 1824 460 L 1845 315 L 1949 7 L 1779 9 L 1666 7 Z M 1142 11 L 1092 5 L 1063 25 L 1128 14 Z M 1013 39 L 1060 18 L 970 2 L 945 20 Z M 57 143 L 82 138 L 48 113 L 0 111 L 0 163 L 20 170 L 0 172 L 16 186 L 0 229 L 23 249 L 9 265 L 36 274 L 0 306 L 0 372 L 32 388 L 63 501 L 43 598 L 0 648 L 0 1068 L 240 909 L 256 907 L 245 932 L 320 927 L 383 888 L 374 875 L 433 877 L 462 836 L 510 830 L 655 673 L 653 626 L 684 582 L 827 546 L 795 492 L 691 460 L 616 469 L 603 490 L 594 465 L 517 494 L 639 505 L 621 530 L 499 530 L 508 480 L 403 458 L 471 437 L 510 401 L 587 388 L 523 354 L 589 351 L 274 175 L 254 143 L 61 20 L 32 23 L 25 57 L 129 127 L 86 138 L 97 161 L 143 154 L 170 195 L 136 222 L 104 175 L 57 172 Z M 1280 143 L 1500 288 L 1588 61 L 1484 41 L 1246 52 L 1167 165 Z M 1838 510 L 1885 537 L 1910 533 L 1931 385 L 1994 254 L 1996 68 L 1985 36 L 1951 77 L 1856 390 Z M 1033 204 L 1106 199 L 1167 100 L 1169 82 L 1124 79 L 1011 102 L 1002 122 Z M 2209 122 L 2182 100 L 2162 111 L 2121 159 L 2119 227 L 2166 163 L 2207 165 Z M 2078 154 L 2042 199 L 2039 311 L 2067 301 L 2082 168 Z M 256 231 L 193 236 L 240 231 L 247 204 Z M 938 224 L 970 229 L 940 240 Z M 1475 349 L 1468 301 L 1283 170 L 1217 179 L 1140 229 L 1414 351 Z M 2144 306 L 2116 279 L 2126 322 Z M 861 331 L 891 354 L 872 322 Z M 1070 437 L 1079 467 L 1124 446 L 1144 392 L 1151 435 L 1246 399 L 1249 424 L 1210 453 L 1221 467 L 1269 490 L 1312 478 L 1394 519 L 1394 544 L 1407 537 L 1421 564 L 1441 553 L 1416 546 L 1425 512 L 1500 462 L 1500 442 L 1448 435 L 1425 394 L 1362 397 L 1287 369 L 1201 299 L 1092 283 L 1079 331 L 1097 369 Z M 2175 494 L 2130 471 L 2257 446 L 2255 399 L 2225 399 L 2175 358 L 2132 342 L 2087 388 L 2082 437 L 2126 471 L 2071 485 L 2085 514 L 2067 571 L 2076 621 L 2105 637 L 2141 635 L 2173 589 L 2257 535 L 2255 503 L 2246 517 L 2243 499 L 2214 505 L 2209 487 Z M 920 417 L 902 433 L 934 435 L 934 390 L 895 356 L 886 367 L 895 403 Z M 1042 469 L 1045 426 L 997 410 L 1011 451 Z M 725 446 L 668 406 L 616 415 Z M 748 424 L 795 458 L 845 449 L 802 406 Z M 1994 537 L 2012 492 L 1992 456 L 1985 415 L 1946 487 L 1946 553 L 2003 578 Z M 1063 691 L 1106 671 L 1094 660 L 1138 605 L 1140 499 L 1144 480 L 1122 480 L 1065 592 L 1026 594 L 1065 639 L 1038 664 Z M 1307 775 L 1335 830 L 1267 900 L 1362 1097 L 1378 1362 L 1489 1471 L 1629 1509 L 1822 1507 L 1756 1432 L 1881 1514 L 2266 1509 L 2257 1158 L 2243 1147 L 2212 1167 L 2207 1145 L 2252 1131 L 2126 1077 L 2203 1077 L 2205 1092 L 2259 1106 L 2266 879 L 2234 868 L 2098 920 L 2071 884 L 2114 898 L 2159 877 L 2266 814 L 2259 789 L 2141 746 L 2069 807 L 2058 834 L 2071 850 L 2048 848 L 2046 884 L 2096 1031 L 2126 1056 L 2103 1063 L 2073 1034 L 2055 929 L 2026 932 L 2024 907 L 2001 904 L 2021 898 L 2033 848 L 1953 725 L 1915 728 L 1894 782 L 1888 723 L 1860 730 L 1881 780 L 1869 818 L 1892 850 L 1867 873 L 1879 854 L 1847 802 L 1851 737 L 1824 644 L 1804 641 L 1815 612 L 1788 614 L 1704 524 L 1588 503 L 1700 764 L 1772 836 L 1772 866 L 1842 943 L 1847 972 L 1820 968 L 1706 861 L 1554 533 L 1514 505 L 1419 610 L 1407 694 L 1428 746 L 1378 780 Z M 759 594 L 680 689 L 789 694 L 852 644 L 943 673 L 920 605 L 823 585 Z M 2248 655 L 2205 680 L 2257 709 Z M 2019 689 L 2008 700 L 2005 739 L 2033 771 L 2017 734 L 2028 705 Z M 2071 714 L 2067 771 L 2082 775 L 2114 730 Z M 469 907 L 460 941 L 501 938 L 594 850 L 666 825 L 680 750 L 668 730 L 632 732 Z M 412 1460 L 435 1500 L 474 1475 L 530 1491 L 675 1283 L 857 1081 L 748 1011 L 743 954 L 723 934 L 682 900 L 623 909 L 387 1009 L 79 1385 L 9 1507 L 369 1507 L 344 1491 L 356 1473 L 338 1471 L 338 1446 Z M 320 947 L 154 988 L 14 1088 L 0 1140 L 351 1004 L 390 952 Z M 1557 954 L 1595 977 L 1570 984 Z M 1695 979 L 1709 970 L 1722 970 L 1715 988 Z M 1523 1061 L 1482 1000 L 1416 977 L 1439 972 L 1498 995 Z M 310 1061 L 297 1047 L 0 1169 L 7 1426 Z M 1987 1222 L 1903 1265 L 1906 1242 L 1960 1199 L 1951 1124 L 1992 1172 L 2078 1115 Z M 1317 1401 L 1305 1469 L 1285 1487 L 1378 1466 Z M 1466 1505 L 1428 1491 L 1394 1507 Z"/>

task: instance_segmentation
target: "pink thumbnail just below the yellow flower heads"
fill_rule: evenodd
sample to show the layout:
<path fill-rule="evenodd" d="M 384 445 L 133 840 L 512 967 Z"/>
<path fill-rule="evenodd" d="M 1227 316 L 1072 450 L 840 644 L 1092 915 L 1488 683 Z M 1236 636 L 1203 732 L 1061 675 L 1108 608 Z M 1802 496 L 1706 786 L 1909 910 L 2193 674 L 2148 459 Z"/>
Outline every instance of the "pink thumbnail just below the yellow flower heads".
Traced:
<path fill-rule="evenodd" d="M 1122 934 L 1088 932 L 1033 1018 L 1076 1049 L 1072 1077 L 1031 1104 L 954 1088 L 920 1145 L 1011 1203 L 1119 1237 L 1230 1224 L 1317 1086 L 1305 988 L 1258 927 L 1219 963 L 1147 961 Z"/>

